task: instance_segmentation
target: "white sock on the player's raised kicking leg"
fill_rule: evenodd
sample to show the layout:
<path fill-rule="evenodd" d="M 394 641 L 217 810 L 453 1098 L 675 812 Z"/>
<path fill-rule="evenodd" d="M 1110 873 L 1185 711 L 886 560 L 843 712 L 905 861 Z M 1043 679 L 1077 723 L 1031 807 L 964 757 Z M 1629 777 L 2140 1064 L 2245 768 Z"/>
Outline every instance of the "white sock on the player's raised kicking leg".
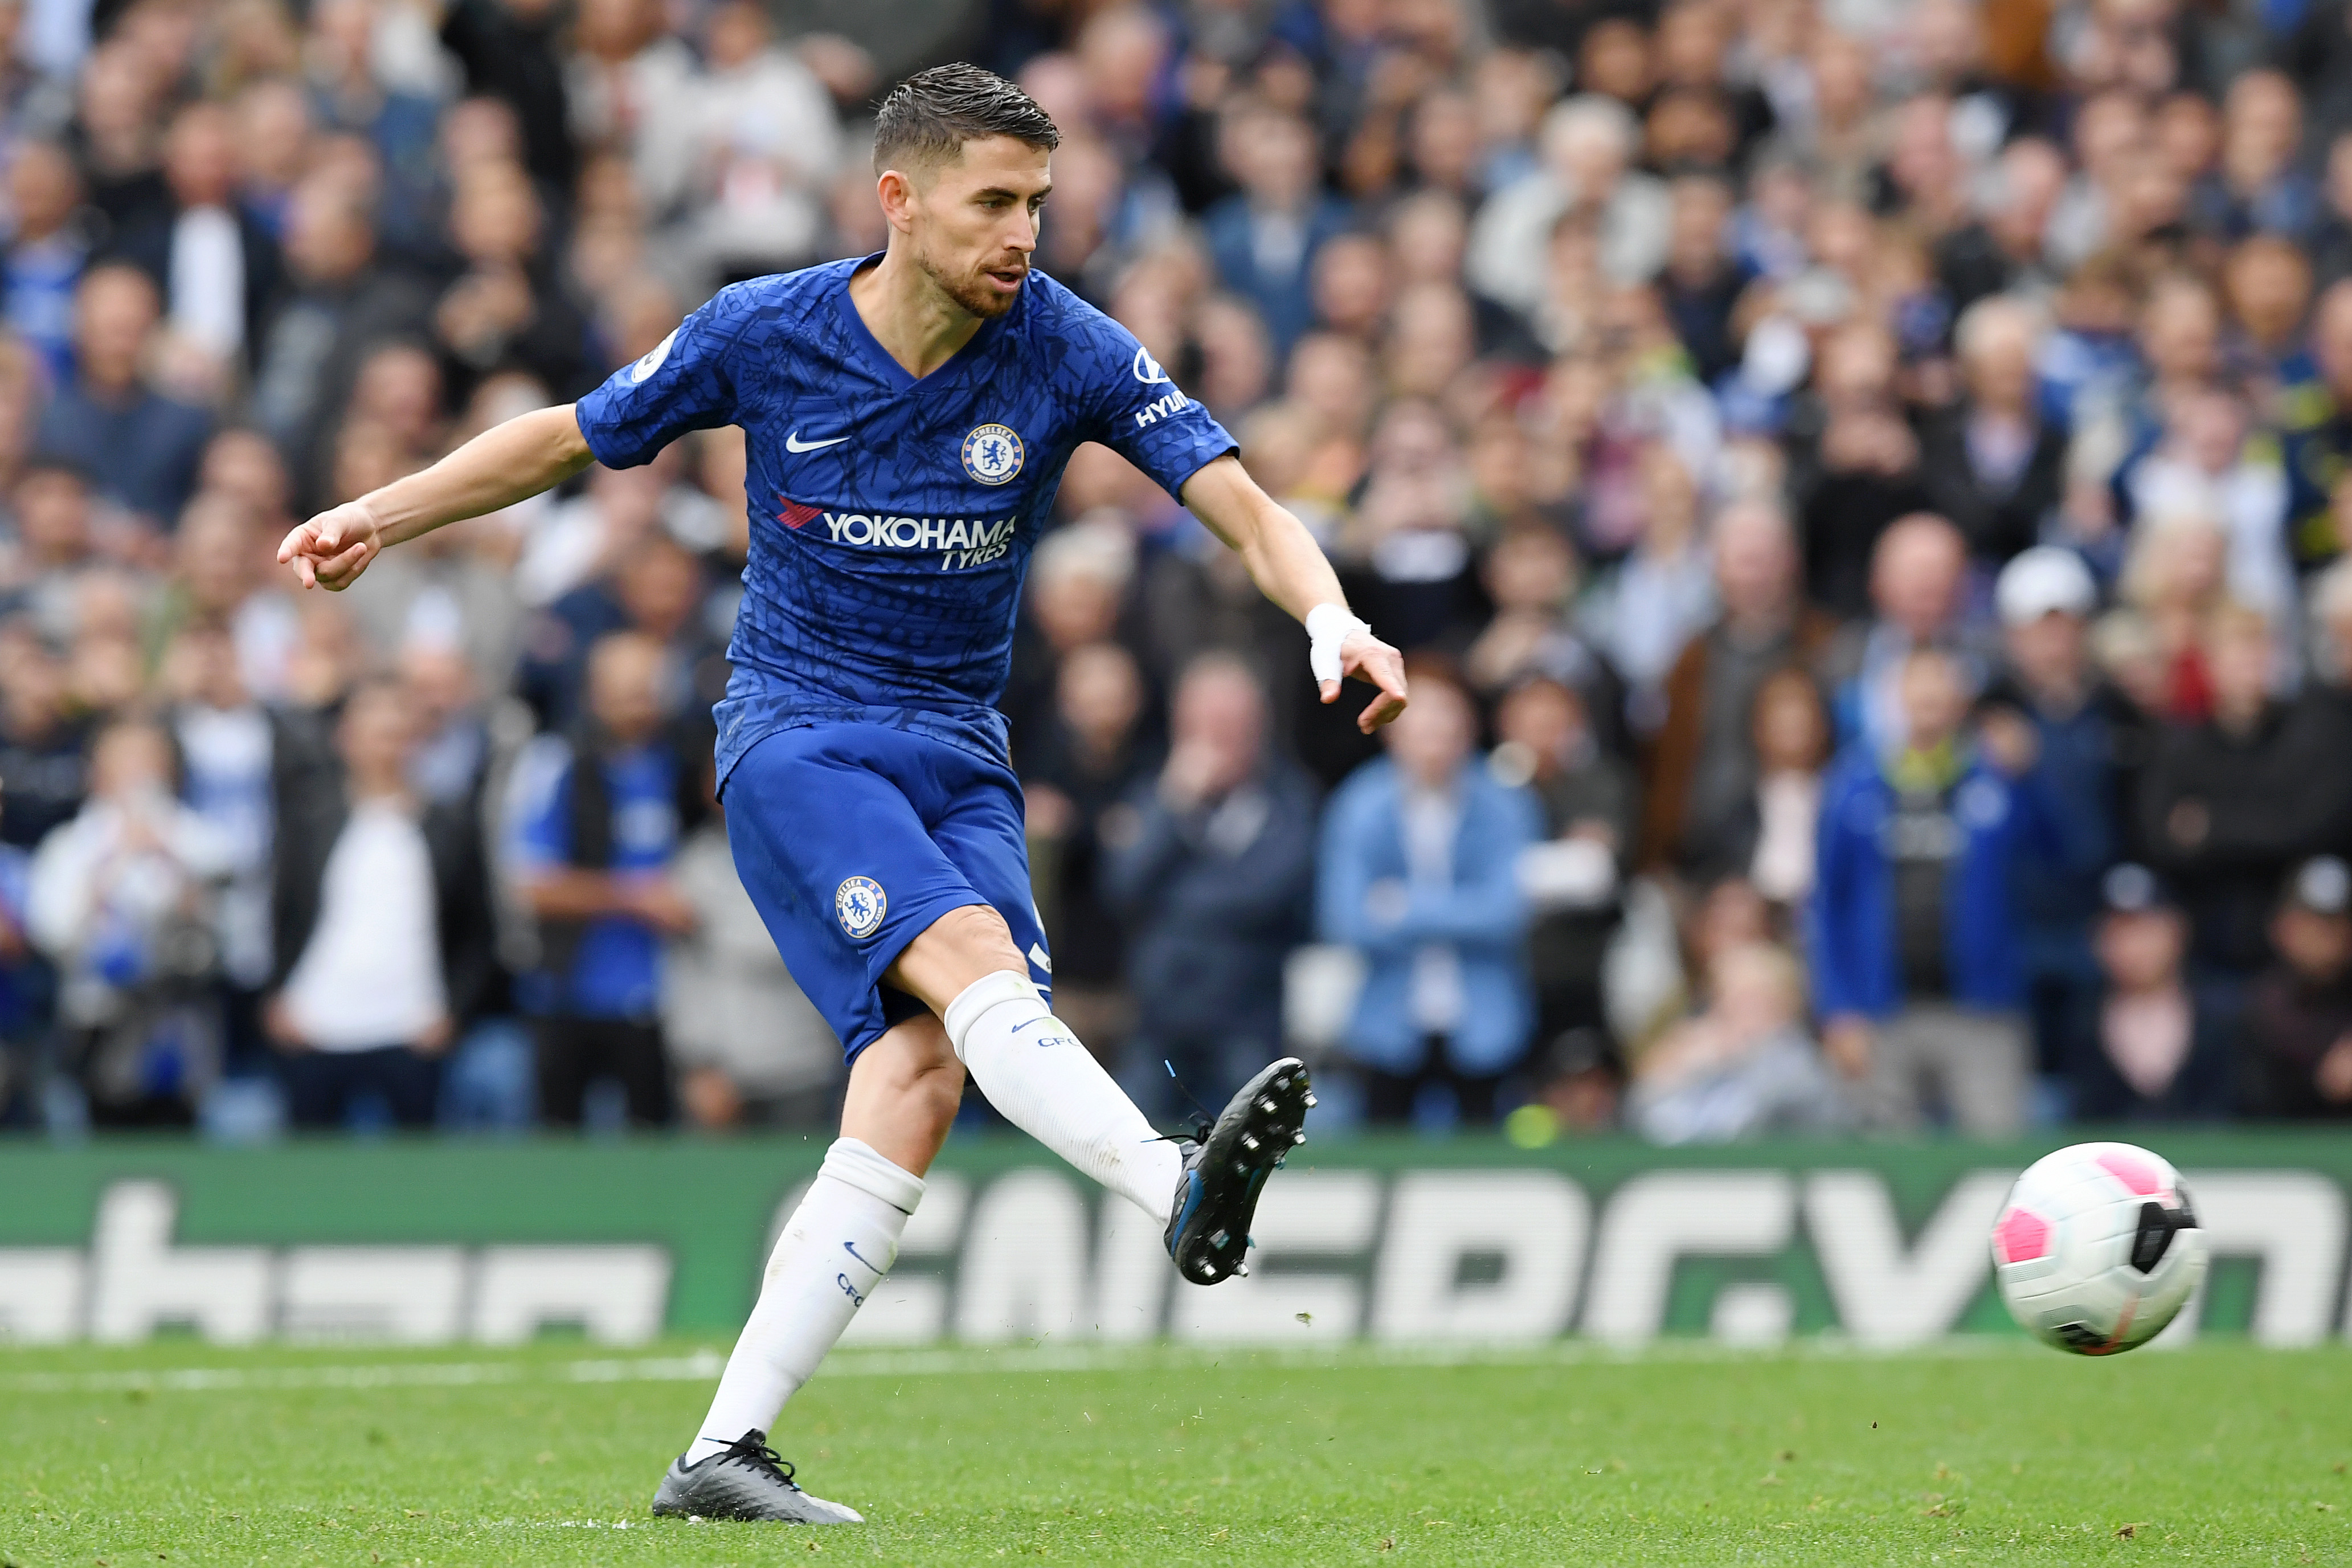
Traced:
<path fill-rule="evenodd" d="M 1183 1154 L 1103 1072 L 1028 976 L 1000 969 L 948 1004 L 948 1039 L 988 1103 L 1162 1225 Z"/>

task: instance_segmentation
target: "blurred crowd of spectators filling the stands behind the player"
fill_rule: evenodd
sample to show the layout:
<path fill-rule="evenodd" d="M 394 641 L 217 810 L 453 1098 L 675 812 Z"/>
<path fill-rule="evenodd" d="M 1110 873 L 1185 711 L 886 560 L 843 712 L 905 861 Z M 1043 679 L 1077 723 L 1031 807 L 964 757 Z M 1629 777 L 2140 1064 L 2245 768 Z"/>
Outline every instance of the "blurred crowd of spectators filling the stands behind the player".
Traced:
<path fill-rule="evenodd" d="M 296 595 L 315 508 L 882 247 L 755 0 L 7 0 L 0 1124 L 816 1124 L 708 703 L 734 430 Z M 1040 266 L 1409 654 L 1087 447 L 1004 708 L 1171 1121 L 2352 1117 L 2345 0 L 988 0 Z M 974 1117 L 985 1107 L 974 1105 Z"/>

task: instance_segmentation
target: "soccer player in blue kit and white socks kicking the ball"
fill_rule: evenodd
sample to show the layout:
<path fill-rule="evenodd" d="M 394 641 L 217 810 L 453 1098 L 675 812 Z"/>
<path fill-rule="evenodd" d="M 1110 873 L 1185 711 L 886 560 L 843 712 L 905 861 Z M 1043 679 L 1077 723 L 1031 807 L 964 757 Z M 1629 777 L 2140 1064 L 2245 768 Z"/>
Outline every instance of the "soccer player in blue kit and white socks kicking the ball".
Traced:
<path fill-rule="evenodd" d="M 1258 1190 L 1305 1138 L 1315 1100 L 1291 1058 L 1197 1143 L 1160 1138 L 1047 1001 L 1054 966 L 993 703 L 1021 574 L 1080 442 L 1127 456 L 1240 550 L 1305 621 L 1324 703 L 1355 675 L 1378 686 L 1367 733 L 1404 710 L 1397 651 L 1348 611 L 1232 437 L 1124 327 L 1033 275 L 1058 139 L 988 71 L 901 82 L 875 125 L 880 256 L 720 289 L 581 402 L 485 430 L 278 548 L 303 588 L 341 590 L 386 545 L 588 463 L 644 463 L 687 430 L 746 433 L 750 564 L 715 712 L 727 837 L 793 978 L 842 1037 L 849 1091 L 656 1514 L 858 1521 L 800 1490 L 767 1432 L 896 1260 L 964 1072 L 1014 1126 L 1164 1222 L 1192 1284 L 1247 1272 Z"/>

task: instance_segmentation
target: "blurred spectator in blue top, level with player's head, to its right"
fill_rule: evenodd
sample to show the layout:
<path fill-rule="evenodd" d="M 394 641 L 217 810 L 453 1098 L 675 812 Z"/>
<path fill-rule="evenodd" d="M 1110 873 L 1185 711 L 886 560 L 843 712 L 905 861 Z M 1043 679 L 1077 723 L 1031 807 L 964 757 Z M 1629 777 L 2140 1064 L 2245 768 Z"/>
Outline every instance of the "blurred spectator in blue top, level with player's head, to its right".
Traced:
<path fill-rule="evenodd" d="M 1275 360 L 1312 324 L 1315 252 L 1348 228 L 1348 205 L 1324 193 L 1315 129 L 1279 108 L 1251 108 L 1223 134 L 1242 190 L 1209 209 L 1209 254 L 1225 287 L 1256 306 Z"/>

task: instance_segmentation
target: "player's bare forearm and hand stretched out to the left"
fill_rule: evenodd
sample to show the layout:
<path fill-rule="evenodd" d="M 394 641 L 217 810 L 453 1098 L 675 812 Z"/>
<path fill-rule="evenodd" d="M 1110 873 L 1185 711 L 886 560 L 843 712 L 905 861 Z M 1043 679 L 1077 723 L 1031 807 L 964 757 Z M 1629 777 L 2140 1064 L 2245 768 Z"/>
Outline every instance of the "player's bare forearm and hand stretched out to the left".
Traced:
<path fill-rule="evenodd" d="M 303 588 L 341 592 L 386 545 L 515 505 L 595 461 L 572 404 L 492 425 L 433 468 L 329 508 L 285 536 L 278 562 Z"/>

